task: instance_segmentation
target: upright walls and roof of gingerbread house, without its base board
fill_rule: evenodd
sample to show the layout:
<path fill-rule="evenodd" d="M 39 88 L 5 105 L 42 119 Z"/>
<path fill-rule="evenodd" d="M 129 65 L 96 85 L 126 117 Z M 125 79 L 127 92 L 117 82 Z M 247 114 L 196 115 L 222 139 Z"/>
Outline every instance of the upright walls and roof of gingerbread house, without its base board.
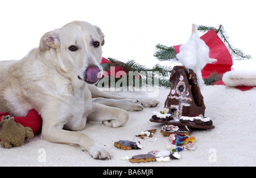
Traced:
<path fill-rule="evenodd" d="M 204 116 L 204 97 L 195 72 L 187 71 L 183 66 L 175 66 L 169 81 L 171 91 L 164 103 L 164 114 L 171 114 L 175 120 L 181 116 Z"/>

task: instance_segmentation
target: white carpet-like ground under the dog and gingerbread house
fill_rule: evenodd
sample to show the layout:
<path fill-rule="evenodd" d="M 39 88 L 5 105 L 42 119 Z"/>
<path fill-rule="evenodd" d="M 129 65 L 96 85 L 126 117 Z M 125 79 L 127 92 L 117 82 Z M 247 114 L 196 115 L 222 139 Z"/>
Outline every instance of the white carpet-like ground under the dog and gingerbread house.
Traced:
<path fill-rule="evenodd" d="M 170 162 L 130 163 L 125 156 L 146 154 L 152 150 L 166 150 L 170 144 L 162 136 L 162 125 L 150 122 L 152 111 L 163 110 L 169 89 L 161 88 L 157 107 L 130 112 L 126 125 L 119 128 L 105 127 L 102 123 L 88 123 L 82 133 L 112 151 L 111 160 L 94 160 L 88 152 L 77 146 L 50 143 L 40 140 L 40 134 L 27 139 L 21 147 L 0 147 L 0 166 L 255 166 L 256 165 L 256 88 L 242 92 L 226 86 L 204 86 L 201 93 L 207 107 L 205 116 L 212 118 L 215 129 L 192 130 L 196 151 L 181 151 L 181 159 Z M 140 95 L 141 92 L 129 94 Z M 135 135 L 148 129 L 157 129 L 152 138 L 140 139 Z M 158 140 L 155 140 L 158 138 Z M 142 150 L 119 150 L 118 140 L 141 141 Z M 42 162 L 43 161 L 43 162 Z"/>

